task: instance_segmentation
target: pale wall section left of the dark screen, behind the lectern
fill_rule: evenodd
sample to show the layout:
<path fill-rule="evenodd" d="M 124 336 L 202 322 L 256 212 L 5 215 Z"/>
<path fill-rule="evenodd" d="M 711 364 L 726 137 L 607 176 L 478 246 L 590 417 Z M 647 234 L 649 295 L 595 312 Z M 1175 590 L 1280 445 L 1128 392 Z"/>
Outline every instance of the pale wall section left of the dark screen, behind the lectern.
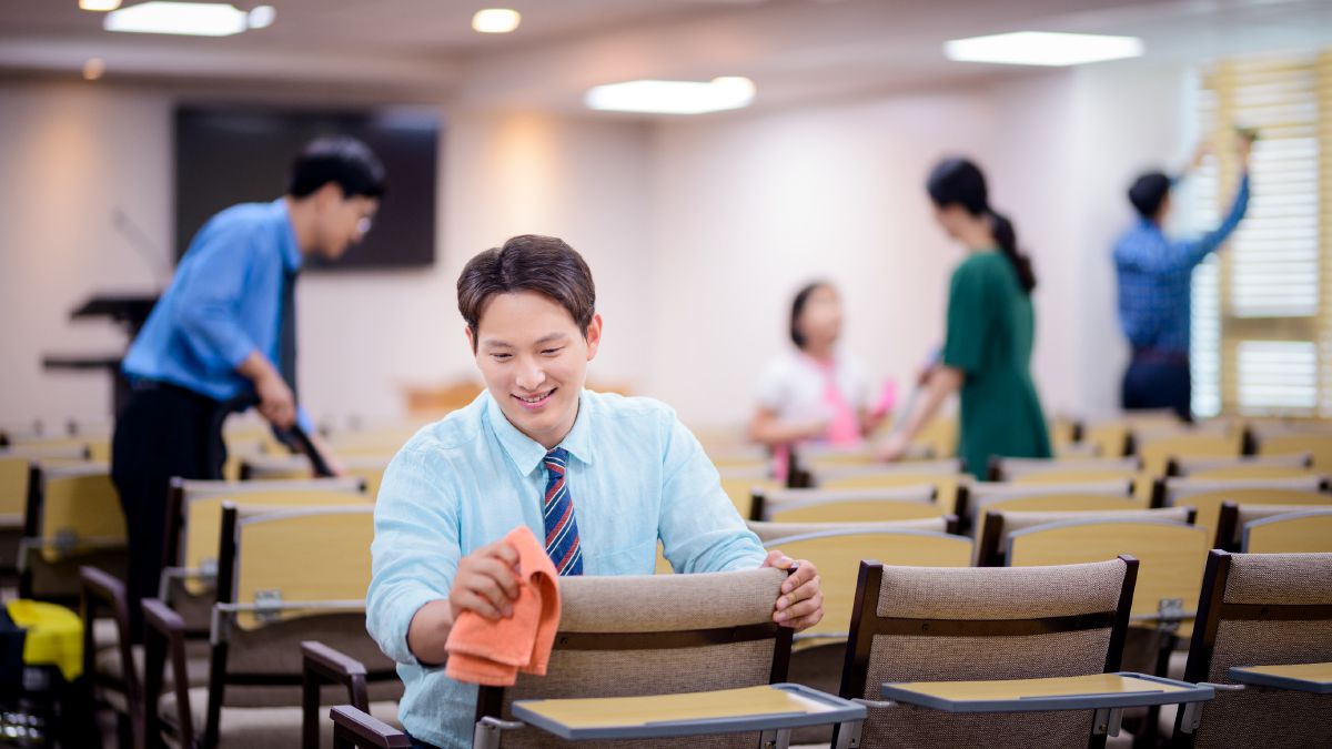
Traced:
<path fill-rule="evenodd" d="M 170 111 L 152 93 L 0 85 L 0 421 L 105 418 L 111 381 L 48 373 L 44 353 L 116 353 L 109 323 L 71 323 L 95 291 L 151 292 L 170 231 Z M 124 211 L 160 248 L 112 228 Z"/>

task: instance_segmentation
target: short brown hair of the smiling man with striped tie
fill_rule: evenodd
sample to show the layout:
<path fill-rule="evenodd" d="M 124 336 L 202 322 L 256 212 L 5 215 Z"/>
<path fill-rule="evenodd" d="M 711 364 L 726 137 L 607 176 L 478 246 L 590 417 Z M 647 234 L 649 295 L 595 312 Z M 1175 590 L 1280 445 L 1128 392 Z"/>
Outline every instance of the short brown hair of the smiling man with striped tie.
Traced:
<path fill-rule="evenodd" d="M 563 240 L 522 235 L 468 261 L 458 276 L 458 312 L 472 331 L 473 349 L 486 303 L 513 292 L 537 292 L 559 303 L 587 336 L 597 313 L 597 287 L 582 256 Z"/>

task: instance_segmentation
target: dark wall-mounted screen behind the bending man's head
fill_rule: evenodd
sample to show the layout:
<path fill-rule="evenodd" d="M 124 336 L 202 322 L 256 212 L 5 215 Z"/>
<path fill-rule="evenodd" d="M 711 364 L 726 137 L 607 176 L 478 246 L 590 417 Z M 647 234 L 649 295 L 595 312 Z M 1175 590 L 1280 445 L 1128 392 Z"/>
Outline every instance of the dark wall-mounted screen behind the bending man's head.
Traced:
<path fill-rule="evenodd" d="M 388 189 L 365 241 L 330 271 L 434 263 L 440 119 L 433 111 L 308 112 L 236 107 L 176 111 L 176 257 L 218 211 L 286 191 L 292 159 L 325 135 L 361 139 L 384 161 Z"/>

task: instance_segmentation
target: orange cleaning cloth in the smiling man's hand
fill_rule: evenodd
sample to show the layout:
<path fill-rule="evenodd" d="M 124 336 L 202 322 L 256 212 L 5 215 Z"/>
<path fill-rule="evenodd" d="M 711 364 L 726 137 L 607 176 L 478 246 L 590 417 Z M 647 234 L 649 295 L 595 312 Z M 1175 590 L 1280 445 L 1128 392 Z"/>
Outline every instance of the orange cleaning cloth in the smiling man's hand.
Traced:
<path fill-rule="evenodd" d="M 457 681 L 513 686 L 518 672 L 545 676 L 559 628 L 559 584 L 546 548 L 526 525 L 503 537 L 518 552 L 518 600 L 513 617 L 490 621 L 462 612 L 449 632 L 444 672 Z"/>

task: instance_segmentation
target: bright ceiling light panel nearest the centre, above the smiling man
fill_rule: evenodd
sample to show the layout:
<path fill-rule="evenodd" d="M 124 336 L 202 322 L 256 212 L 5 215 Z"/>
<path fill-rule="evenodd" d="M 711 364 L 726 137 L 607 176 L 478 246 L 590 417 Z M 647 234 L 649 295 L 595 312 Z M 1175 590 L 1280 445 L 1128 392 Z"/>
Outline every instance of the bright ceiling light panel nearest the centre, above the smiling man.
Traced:
<path fill-rule="evenodd" d="M 702 115 L 741 109 L 754 100 L 754 81 L 727 76 L 710 81 L 633 80 L 593 87 L 583 101 L 603 112 Z"/>

